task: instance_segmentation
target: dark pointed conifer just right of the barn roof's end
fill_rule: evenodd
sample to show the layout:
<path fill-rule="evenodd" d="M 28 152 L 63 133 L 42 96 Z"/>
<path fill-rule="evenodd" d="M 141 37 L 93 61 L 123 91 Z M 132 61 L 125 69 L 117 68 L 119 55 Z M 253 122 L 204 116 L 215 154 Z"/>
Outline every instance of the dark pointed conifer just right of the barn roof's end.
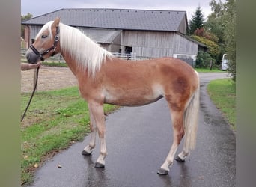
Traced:
<path fill-rule="evenodd" d="M 189 21 L 189 34 L 194 34 L 197 28 L 204 27 L 204 14 L 201 10 L 201 7 L 197 7 L 195 14 L 192 15 L 192 19 Z"/>

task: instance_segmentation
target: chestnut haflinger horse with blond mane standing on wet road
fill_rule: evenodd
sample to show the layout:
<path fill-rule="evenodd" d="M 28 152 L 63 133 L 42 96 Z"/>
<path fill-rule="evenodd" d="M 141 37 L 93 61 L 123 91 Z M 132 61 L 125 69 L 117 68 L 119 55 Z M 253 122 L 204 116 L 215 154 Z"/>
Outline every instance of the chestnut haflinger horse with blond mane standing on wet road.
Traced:
<path fill-rule="evenodd" d="M 43 25 L 26 52 L 26 58 L 35 64 L 57 53 L 61 53 L 76 76 L 79 93 L 88 102 L 91 139 L 82 155 L 91 155 L 98 132 L 100 156 L 95 163 L 96 168 L 105 167 L 107 155 L 104 103 L 139 106 L 165 98 L 174 139 L 158 174 L 168 174 L 183 136 L 183 151 L 175 159 L 183 162 L 189 150 L 194 149 L 200 86 L 198 73 L 189 64 L 177 58 L 121 60 L 79 29 L 61 23 L 59 18 Z"/>

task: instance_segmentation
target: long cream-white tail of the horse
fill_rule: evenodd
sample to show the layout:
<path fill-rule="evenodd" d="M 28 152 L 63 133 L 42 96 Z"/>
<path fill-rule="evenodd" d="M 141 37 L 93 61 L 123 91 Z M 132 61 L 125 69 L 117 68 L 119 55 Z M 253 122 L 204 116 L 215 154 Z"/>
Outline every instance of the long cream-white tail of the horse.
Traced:
<path fill-rule="evenodd" d="M 189 101 L 189 105 L 187 106 L 184 114 L 184 122 L 185 122 L 184 147 L 186 147 L 186 149 L 188 150 L 193 150 L 195 148 L 196 135 L 198 131 L 198 111 L 199 111 L 199 101 L 200 101 L 199 97 L 200 97 L 200 82 L 199 82 L 199 76 L 198 76 L 198 88 L 195 90 L 195 93 L 192 95 Z"/>

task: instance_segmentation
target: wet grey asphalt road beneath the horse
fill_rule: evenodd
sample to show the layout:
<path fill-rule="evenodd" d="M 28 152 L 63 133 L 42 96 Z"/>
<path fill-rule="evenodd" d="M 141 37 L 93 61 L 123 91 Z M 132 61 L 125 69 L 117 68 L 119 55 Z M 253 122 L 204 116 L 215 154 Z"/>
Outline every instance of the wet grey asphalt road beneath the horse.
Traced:
<path fill-rule="evenodd" d="M 87 136 L 46 162 L 36 172 L 31 186 L 235 186 L 235 134 L 206 92 L 207 82 L 226 75 L 200 76 L 197 145 L 186 162 L 174 161 L 167 176 L 156 174 L 172 143 L 171 117 L 165 100 L 160 99 L 109 114 L 105 168 L 94 168 L 98 141 L 92 156 L 82 156 L 81 151 L 89 142 Z M 177 153 L 182 144 L 183 141 Z"/>

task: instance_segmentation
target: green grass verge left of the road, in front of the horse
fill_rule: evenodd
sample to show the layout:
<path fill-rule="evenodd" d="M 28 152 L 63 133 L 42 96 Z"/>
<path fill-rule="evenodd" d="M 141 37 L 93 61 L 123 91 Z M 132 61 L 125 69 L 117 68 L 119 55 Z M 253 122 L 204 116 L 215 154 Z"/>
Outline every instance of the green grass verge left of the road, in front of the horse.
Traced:
<path fill-rule="evenodd" d="M 22 93 L 21 112 L 29 97 L 30 93 Z M 113 110 L 114 105 L 104 105 L 106 113 Z M 31 183 L 33 171 L 49 156 L 82 141 L 88 124 L 88 106 L 77 87 L 35 93 L 21 123 L 21 183 Z"/>

